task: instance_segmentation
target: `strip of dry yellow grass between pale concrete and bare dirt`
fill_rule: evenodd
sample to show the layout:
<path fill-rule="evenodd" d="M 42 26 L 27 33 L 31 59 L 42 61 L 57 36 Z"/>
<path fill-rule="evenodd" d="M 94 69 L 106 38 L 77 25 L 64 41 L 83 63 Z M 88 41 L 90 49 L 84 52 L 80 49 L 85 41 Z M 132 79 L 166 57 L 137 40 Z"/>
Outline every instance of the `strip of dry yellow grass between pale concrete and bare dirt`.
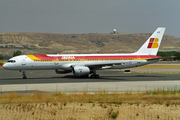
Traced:
<path fill-rule="evenodd" d="M 114 104 L 180 104 L 180 89 L 150 90 L 146 92 L 132 93 L 111 93 L 107 91 L 97 91 L 88 94 L 87 91 L 79 93 L 65 94 L 56 92 L 53 94 L 35 91 L 33 94 L 17 94 L 16 92 L 5 93 L 0 96 L 0 104 L 22 104 L 22 103 L 114 103 Z"/>

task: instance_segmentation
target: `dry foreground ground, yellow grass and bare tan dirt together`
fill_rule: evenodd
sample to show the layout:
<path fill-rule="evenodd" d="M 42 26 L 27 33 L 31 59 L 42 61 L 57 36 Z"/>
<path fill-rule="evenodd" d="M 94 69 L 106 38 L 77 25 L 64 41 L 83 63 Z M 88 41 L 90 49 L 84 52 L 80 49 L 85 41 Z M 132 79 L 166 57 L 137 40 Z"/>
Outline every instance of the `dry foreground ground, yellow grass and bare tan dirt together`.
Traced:
<path fill-rule="evenodd" d="M 1 120 L 179 120 L 180 90 L 0 96 Z"/>

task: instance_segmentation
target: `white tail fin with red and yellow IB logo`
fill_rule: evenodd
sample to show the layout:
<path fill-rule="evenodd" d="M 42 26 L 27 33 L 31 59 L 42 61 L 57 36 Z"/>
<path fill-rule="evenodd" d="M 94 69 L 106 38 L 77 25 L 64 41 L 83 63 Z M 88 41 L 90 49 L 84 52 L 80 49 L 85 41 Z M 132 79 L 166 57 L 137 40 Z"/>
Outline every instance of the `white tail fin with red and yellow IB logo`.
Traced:
<path fill-rule="evenodd" d="M 156 55 L 166 28 L 157 28 L 135 54 Z"/>

